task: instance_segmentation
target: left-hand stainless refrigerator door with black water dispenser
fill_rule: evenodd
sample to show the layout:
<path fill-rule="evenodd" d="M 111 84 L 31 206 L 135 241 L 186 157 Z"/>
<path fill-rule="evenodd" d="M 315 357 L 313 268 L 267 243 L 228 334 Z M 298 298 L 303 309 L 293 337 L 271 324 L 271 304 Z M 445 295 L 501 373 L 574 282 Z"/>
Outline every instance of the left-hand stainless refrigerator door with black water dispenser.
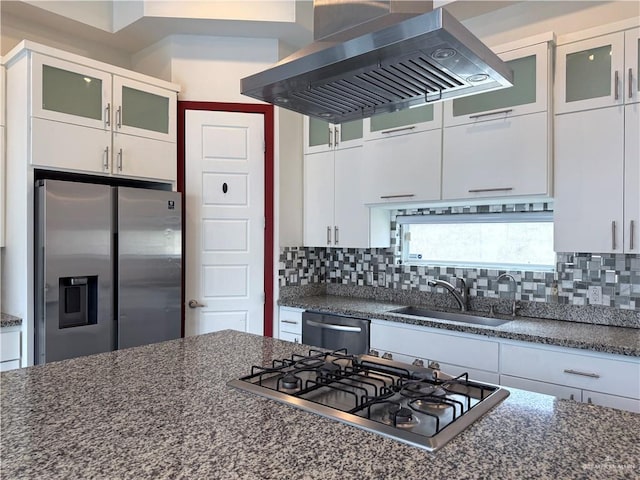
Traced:
<path fill-rule="evenodd" d="M 36 184 L 36 363 L 115 348 L 111 188 Z"/>

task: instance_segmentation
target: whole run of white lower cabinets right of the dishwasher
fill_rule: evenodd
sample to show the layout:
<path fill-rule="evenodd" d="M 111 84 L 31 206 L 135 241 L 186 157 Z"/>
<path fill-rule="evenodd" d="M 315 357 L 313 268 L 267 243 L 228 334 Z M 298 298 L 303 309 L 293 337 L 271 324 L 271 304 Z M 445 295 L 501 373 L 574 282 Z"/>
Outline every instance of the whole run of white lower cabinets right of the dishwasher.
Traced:
<path fill-rule="evenodd" d="M 450 375 L 640 413 L 640 358 L 485 337 L 385 320 L 371 321 L 380 356 Z"/>

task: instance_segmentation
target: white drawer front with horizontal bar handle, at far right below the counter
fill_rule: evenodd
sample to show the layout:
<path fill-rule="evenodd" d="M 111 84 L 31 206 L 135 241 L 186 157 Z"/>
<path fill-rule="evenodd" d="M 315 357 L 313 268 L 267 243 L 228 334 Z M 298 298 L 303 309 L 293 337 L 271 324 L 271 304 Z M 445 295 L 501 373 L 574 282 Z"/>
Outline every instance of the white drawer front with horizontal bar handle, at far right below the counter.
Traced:
<path fill-rule="evenodd" d="M 626 361 L 503 344 L 500 367 L 505 375 L 640 398 L 640 359 Z"/>

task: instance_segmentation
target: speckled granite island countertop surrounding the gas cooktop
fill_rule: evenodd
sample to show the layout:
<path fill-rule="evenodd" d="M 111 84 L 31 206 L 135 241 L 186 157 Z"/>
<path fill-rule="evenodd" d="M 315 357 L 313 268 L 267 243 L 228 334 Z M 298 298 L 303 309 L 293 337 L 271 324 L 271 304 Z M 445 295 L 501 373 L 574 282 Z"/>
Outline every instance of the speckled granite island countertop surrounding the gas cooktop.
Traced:
<path fill-rule="evenodd" d="M 509 389 L 436 453 L 227 385 L 306 348 L 224 331 L 0 376 L 6 479 L 631 479 L 640 415 Z"/>

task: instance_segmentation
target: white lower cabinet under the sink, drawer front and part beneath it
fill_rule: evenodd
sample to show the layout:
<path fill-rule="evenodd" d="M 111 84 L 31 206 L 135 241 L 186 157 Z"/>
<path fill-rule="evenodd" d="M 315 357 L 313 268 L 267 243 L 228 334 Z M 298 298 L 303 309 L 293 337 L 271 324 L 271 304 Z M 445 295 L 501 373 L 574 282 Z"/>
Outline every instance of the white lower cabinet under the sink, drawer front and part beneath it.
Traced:
<path fill-rule="evenodd" d="M 380 355 L 391 353 L 394 359 L 409 363 L 417 358 L 425 361 L 425 366 L 436 362 L 446 373 L 469 372 L 478 380 L 480 375 L 490 373 L 485 378 L 491 378 L 487 380 L 491 383 L 498 380 L 499 347 L 498 342 L 478 335 L 383 320 L 371 322 L 371 349 Z"/>

